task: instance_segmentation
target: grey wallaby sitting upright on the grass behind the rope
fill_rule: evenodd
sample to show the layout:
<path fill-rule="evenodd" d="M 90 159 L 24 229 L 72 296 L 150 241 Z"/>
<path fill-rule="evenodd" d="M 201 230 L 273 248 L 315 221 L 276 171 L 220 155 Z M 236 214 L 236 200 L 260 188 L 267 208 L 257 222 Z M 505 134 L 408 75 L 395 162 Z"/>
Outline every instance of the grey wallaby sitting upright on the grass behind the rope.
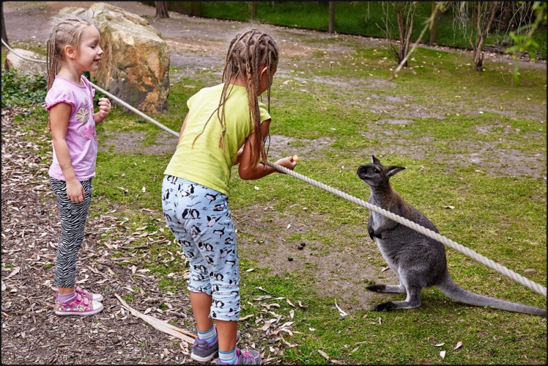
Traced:
<path fill-rule="evenodd" d="M 358 177 L 371 188 L 369 203 L 396 215 L 413 221 L 425 228 L 438 232 L 436 227 L 390 186 L 389 179 L 403 167 L 384 167 L 372 156 L 371 164 L 362 165 L 356 172 Z M 451 299 L 464 304 L 476 306 L 491 306 L 517 313 L 546 316 L 546 310 L 498 300 L 493 297 L 477 295 L 462 289 L 449 275 L 443 243 L 430 239 L 405 225 L 390 220 L 377 212 L 370 212 L 367 231 L 373 241 L 377 242 L 382 256 L 390 269 L 399 278 L 399 285 L 373 284 L 368 290 L 386 293 L 406 293 L 405 301 L 386 302 L 372 308 L 375 311 L 418 308 L 421 306 L 421 289 L 436 286 Z"/>

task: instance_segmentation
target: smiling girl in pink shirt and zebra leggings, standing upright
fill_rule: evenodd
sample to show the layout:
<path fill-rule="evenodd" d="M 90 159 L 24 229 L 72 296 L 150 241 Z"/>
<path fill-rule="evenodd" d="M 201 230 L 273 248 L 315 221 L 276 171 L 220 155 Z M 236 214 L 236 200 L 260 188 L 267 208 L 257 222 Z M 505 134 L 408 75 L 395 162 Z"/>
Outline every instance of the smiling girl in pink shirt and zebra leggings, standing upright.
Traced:
<path fill-rule="evenodd" d="M 97 135 L 95 126 L 110 112 L 110 101 L 99 98 L 93 112 L 93 90 L 82 75 L 97 71 L 103 50 L 99 31 L 77 16 L 55 20 L 47 41 L 47 128 L 53 138 L 53 164 L 49 168 L 51 188 L 57 196 L 61 236 L 55 258 L 53 284 L 55 314 L 94 315 L 103 310 L 103 296 L 75 286 L 77 254 L 95 177 Z"/>

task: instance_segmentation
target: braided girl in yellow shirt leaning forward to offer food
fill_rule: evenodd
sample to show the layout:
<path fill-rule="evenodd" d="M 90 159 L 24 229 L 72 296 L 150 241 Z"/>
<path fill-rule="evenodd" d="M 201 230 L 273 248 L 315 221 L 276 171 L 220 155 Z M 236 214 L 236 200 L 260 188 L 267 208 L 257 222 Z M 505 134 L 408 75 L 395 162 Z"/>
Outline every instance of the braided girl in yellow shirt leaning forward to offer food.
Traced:
<path fill-rule="evenodd" d="M 218 364 L 261 361 L 258 352 L 236 348 L 240 271 L 228 183 L 234 164 L 240 164 L 244 180 L 277 171 L 266 164 L 264 144 L 278 60 L 276 42 L 268 34 L 257 29 L 236 34 L 223 84 L 188 99 L 177 150 L 164 171 L 164 217 L 190 262 L 188 289 L 198 328 L 191 358 L 199 363 L 207 363 L 217 351 Z M 258 100 L 265 91 L 268 106 Z M 276 164 L 292 170 L 297 162 L 287 157 Z"/>

